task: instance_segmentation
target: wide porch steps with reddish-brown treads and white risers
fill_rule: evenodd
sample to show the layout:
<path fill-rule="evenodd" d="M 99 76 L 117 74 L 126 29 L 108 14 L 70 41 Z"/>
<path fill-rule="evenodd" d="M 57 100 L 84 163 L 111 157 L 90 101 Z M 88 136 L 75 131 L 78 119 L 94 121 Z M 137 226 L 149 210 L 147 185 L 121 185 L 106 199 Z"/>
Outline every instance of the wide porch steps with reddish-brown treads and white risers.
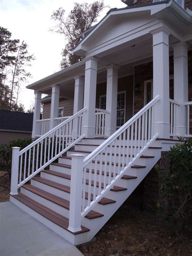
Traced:
<path fill-rule="evenodd" d="M 162 149 L 160 141 L 156 143 L 155 146 L 151 145 L 143 156 L 137 160 L 128 172 L 119 179 L 115 186 L 113 186 L 85 218 L 82 219 L 81 232 L 71 233 L 68 230 L 71 179 L 70 154 L 88 155 L 94 148 L 100 145 L 99 141 L 102 140 L 103 138 L 93 140 L 90 138 L 83 139 L 81 142 L 77 143 L 78 145 L 75 145 L 74 150 L 70 149 L 67 151 L 67 156 L 58 158 L 58 163 L 51 163 L 49 170 L 41 171 L 41 177 L 33 177 L 31 184 L 23 185 L 21 187 L 21 193 L 10 196 L 10 200 L 71 243 L 78 245 L 90 241 L 153 168 L 160 159 Z M 119 145 L 119 147 L 121 147 L 121 145 Z M 118 153 L 113 151 L 112 154 L 113 156 L 116 154 L 118 161 L 120 158 L 120 165 L 123 166 L 123 162 L 126 162 L 126 158 L 122 161 L 123 151 L 121 150 L 118 150 Z M 109 170 L 109 151 L 107 150 L 106 152 L 107 155 L 105 159 L 107 160 L 107 169 L 105 171 L 104 167 L 106 162 L 103 160 L 101 170 L 98 170 L 100 161 L 97 160 L 97 170 L 92 169 L 91 177 L 89 177 L 89 169 L 87 168 L 85 183 L 86 202 L 88 201 L 87 189 L 89 179 L 91 181 L 90 200 L 93 201 L 94 177 L 96 177 L 95 189 L 97 194 L 99 190 L 99 173 L 102 174 L 100 182 L 101 188 L 103 188 L 104 179 L 106 179 L 108 183 L 109 175 L 111 175 L 112 180 L 114 170 L 117 172 L 117 162 L 113 163 L 112 170 Z M 127 152 L 127 155 L 130 157 L 130 151 Z"/>

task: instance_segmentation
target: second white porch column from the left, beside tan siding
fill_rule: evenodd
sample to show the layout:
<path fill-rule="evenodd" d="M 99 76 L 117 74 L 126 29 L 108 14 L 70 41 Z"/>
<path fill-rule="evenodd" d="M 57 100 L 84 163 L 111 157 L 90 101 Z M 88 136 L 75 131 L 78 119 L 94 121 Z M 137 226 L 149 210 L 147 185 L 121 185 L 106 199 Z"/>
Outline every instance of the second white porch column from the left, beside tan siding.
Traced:
<path fill-rule="evenodd" d="M 58 117 L 60 85 L 52 85 L 51 114 L 49 130 L 55 127 L 54 118 Z"/>

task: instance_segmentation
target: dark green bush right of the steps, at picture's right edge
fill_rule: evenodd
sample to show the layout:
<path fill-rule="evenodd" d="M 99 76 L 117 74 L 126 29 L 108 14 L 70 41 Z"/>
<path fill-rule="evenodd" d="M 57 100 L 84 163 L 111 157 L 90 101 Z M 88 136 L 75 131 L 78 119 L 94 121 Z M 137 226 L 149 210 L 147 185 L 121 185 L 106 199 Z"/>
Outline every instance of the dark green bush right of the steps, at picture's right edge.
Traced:
<path fill-rule="evenodd" d="M 192 226 L 192 139 L 171 147 L 166 172 L 159 171 L 162 190 L 169 202 L 169 218 L 177 228 Z"/>

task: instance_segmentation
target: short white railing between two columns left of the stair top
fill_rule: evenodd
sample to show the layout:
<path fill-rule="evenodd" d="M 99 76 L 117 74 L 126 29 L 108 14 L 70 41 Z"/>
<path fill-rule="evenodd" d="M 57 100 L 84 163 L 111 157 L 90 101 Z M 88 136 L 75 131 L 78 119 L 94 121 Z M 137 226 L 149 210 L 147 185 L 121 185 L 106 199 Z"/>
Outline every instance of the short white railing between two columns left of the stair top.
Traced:
<path fill-rule="evenodd" d="M 95 135 L 105 136 L 107 125 L 107 114 L 109 111 L 104 109 L 95 109 Z"/>

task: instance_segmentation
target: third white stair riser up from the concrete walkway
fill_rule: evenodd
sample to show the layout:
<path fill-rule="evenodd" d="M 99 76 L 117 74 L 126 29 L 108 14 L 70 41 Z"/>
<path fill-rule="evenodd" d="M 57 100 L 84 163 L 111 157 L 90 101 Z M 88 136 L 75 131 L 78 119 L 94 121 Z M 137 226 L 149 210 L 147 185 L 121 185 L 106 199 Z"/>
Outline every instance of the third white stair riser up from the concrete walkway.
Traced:
<path fill-rule="evenodd" d="M 31 185 L 33 185 L 36 188 L 40 188 L 42 190 L 45 190 L 46 192 L 49 192 L 49 193 L 51 193 L 51 194 L 53 194 L 55 196 L 62 197 L 64 199 L 68 200 L 68 201 L 70 200 L 70 193 L 67 193 L 67 192 L 65 192 L 63 190 L 60 190 L 60 189 L 57 189 L 57 188 L 53 188 L 51 186 L 48 186 L 48 185 L 46 185 L 44 183 L 41 183 L 41 182 L 33 180 L 33 179 L 31 180 Z"/>

